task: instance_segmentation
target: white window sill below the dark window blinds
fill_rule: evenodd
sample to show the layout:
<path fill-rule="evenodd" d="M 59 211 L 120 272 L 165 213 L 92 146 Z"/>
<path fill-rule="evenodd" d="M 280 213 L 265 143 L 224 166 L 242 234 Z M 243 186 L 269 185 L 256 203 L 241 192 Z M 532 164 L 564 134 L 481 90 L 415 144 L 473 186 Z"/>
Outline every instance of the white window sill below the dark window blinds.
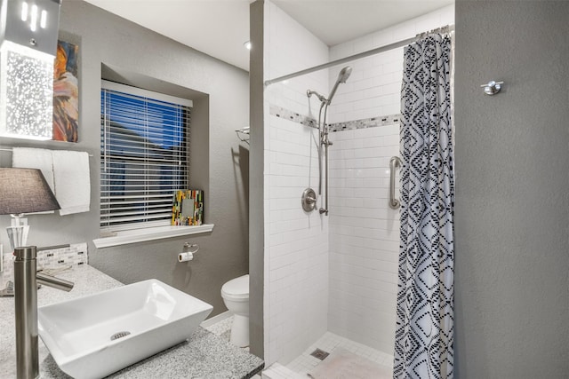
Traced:
<path fill-rule="evenodd" d="M 93 240 L 97 249 L 111 246 L 126 245 L 128 243 L 155 241 L 163 238 L 180 237 L 182 235 L 209 233 L 213 230 L 213 224 L 197 226 L 157 226 L 146 229 L 135 229 L 116 232 L 111 237 L 101 237 Z"/>

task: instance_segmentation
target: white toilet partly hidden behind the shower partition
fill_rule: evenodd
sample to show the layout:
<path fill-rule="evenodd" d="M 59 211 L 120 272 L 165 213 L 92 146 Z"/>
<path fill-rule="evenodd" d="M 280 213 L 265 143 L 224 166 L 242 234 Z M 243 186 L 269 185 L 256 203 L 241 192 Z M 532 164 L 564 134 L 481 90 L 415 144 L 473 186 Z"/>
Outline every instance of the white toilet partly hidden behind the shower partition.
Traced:
<path fill-rule="evenodd" d="M 249 274 L 229 280 L 221 287 L 223 303 L 233 313 L 231 343 L 249 346 Z"/>

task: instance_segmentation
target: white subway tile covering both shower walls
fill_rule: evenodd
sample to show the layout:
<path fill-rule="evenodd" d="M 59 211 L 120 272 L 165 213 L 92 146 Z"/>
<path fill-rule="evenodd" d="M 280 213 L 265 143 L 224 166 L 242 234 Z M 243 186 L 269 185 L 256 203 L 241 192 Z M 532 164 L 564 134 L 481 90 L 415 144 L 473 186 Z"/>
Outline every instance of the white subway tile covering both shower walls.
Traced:
<path fill-rule="evenodd" d="M 265 7 L 265 79 L 453 24 L 453 6 L 328 48 L 275 4 Z M 398 114 L 403 48 L 350 62 L 328 122 Z M 387 206 L 398 123 L 331 133 L 330 217 L 301 209 L 317 190 L 317 132 L 279 108 L 317 119 L 341 67 L 268 86 L 265 92 L 265 361 L 286 364 L 327 330 L 392 353 L 398 212 Z M 270 109 L 270 111 L 269 111 Z M 330 224 L 330 233 L 329 233 Z"/>

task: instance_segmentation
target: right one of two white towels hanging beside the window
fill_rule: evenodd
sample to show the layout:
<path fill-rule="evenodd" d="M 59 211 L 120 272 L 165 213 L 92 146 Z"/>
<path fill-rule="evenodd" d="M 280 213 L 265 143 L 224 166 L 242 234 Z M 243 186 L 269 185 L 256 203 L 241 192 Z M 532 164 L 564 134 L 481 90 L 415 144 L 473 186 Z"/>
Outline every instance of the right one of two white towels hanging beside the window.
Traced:
<path fill-rule="evenodd" d="M 55 197 L 60 215 L 88 212 L 91 205 L 89 154 L 64 150 L 52 151 Z"/>

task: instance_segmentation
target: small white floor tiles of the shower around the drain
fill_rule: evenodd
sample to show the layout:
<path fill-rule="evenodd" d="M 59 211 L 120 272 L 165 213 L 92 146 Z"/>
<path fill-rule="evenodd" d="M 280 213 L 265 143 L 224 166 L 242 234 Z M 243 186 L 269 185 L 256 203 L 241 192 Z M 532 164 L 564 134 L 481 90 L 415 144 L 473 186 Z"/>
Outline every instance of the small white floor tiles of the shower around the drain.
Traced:
<path fill-rule="evenodd" d="M 385 352 L 372 349 L 371 347 L 365 346 L 365 344 L 357 343 L 331 332 L 326 332 L 316 343 L 313 343 L 306 351 L 304 351 L 301 356 L 294 359 L 291 363 L 286 365 L 287 368 L 293 370 L 295 373 L 306 375 L 314 367 L 322 362 L 310 355 L 316 349 L 320 349 L 326 352 L 332 352 L 335 348 L 342 347 L 354 354 L 364 357 L 365 359 L 370 359 L 373 362 L 378 363 L 381 366 L 393 369 L 393 356 Z"/>

